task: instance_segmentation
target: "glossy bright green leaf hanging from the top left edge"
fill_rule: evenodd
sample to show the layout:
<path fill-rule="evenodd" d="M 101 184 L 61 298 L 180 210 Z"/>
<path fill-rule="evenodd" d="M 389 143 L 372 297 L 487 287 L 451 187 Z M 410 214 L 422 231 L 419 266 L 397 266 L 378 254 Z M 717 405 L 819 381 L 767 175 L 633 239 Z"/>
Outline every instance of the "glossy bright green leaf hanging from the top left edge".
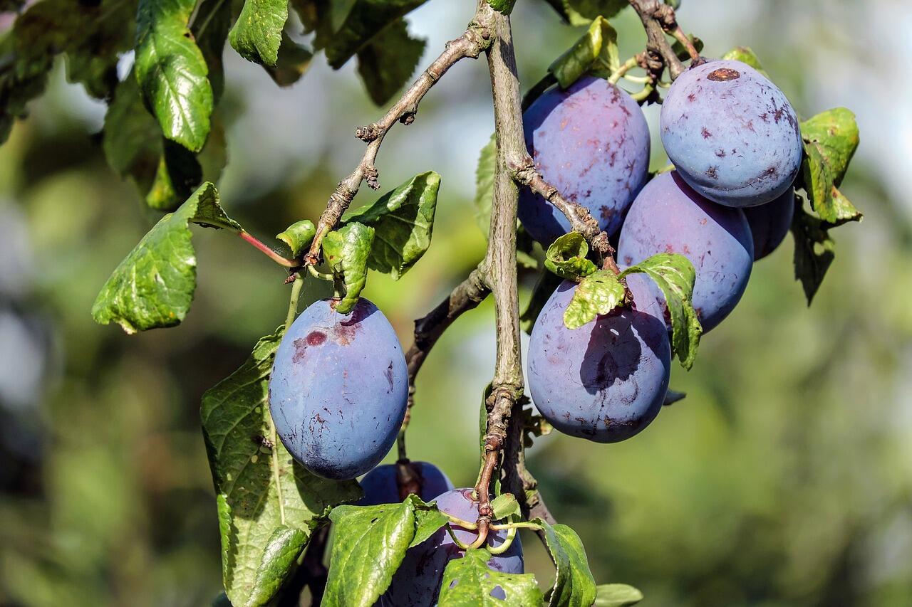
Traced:
<path fill-rule="evenodd" d="M 165 137 L 199 151 L 209 135 L 212 86 L 188 27 L 195 0 L 140 0 L 136 77 Z"/>

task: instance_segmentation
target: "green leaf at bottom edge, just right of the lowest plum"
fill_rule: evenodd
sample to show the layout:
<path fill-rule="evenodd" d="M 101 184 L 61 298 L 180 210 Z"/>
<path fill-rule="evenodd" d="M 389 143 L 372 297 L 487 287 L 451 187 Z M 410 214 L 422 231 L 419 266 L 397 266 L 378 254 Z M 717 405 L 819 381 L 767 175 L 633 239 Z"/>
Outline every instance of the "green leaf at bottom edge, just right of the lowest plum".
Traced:
<path fill-rule="evenodd" d="M 596 580 L 589 571 L 586 549 L 576 532 L 566 525 L 550 525 L 536 519 L 557 574 L 548 601 L 550 607 L 588 607 L 596 600 Z"/>

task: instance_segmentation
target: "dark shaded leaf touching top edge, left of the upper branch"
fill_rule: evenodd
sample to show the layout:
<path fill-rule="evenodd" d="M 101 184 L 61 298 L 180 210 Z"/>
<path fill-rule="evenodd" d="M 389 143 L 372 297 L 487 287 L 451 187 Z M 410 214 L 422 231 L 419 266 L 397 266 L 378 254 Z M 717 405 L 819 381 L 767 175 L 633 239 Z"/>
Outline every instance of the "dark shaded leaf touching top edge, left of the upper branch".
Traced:
<path fill-rule="evenodd" d="M 345 21 L 327 41 L 326 60 L 333 69 L 368 46 L 386 26 L 403 17 L 426 0 L 355 0 Z"/>

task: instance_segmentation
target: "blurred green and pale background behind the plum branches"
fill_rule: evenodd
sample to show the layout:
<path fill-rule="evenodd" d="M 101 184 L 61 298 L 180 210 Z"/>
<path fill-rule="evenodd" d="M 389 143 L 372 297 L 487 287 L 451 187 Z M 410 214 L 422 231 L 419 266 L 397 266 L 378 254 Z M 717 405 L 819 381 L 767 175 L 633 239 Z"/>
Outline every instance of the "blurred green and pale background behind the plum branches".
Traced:
<path fill-rule="evenodd" d="M 429 39 L 421 65 L 472 4 L 436 0 L 409 16 Z M 553 434 L 530 468 L 596 581 L 637 586 L 645 607 L 912 604 L 912 84 L 901 60 L 912 16 L 902 0 L 684 0 L 679 18 L 704 55 L 751 46 L 803 116 L 855 111 L 862 142 L 843 190 L 865 221 L 834 231 L 836 260 L 810 308 L 791 238 L 758 263 L 694 369 L 675 368 L 671 386 L 688 397 L 648 431 L 617 445 Z M 640 50 L 636 15 L 614 22 L 622 57 Z M 513 25 L 524 87 L 580 35 L 526 0 Z M 268 239 L 316 220 L 360 158 L 353 129 L 380 110 L 352 65 L 333 72 L 316 57 L 279 90 L 230 47 L 226 59 L 223 205 Z M 0 148 L 0 603 L 208 604 L 221 570 L 200 396 L 283 322 L 285 274 L 197 230 L 199 287 L 180 327 L 127 336 L 94 324 L 99 287 L 157 215 L 105 162 L 104 106 L 58 68 Z M 646 113 L 654 126 L 658 108 Z M 466 61 L 384 143 L 385 190 L 423 170 L 443 178 L 428 254 L 399 283 L 368 281 L 403 345 L 482 258 L 472 196 L 492 128 L 487 69 Z M 654 139 L 653 165 L 664 163 Z M 409 456 L 457 486 L 477 472 L 492 330 L 489 301 L 420 375 Z M 524 540 L 549 583 L 544 550 Z"/>

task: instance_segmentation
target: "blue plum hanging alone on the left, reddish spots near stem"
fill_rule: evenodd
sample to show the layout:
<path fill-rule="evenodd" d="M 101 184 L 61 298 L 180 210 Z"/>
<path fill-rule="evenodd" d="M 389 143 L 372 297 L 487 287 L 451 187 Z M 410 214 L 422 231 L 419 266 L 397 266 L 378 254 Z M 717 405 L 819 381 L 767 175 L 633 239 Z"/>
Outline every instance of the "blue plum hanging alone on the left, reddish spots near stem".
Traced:
<path fill-rule="evenodd" d="M 392 447 L 409 381 L 392 326 L 362 297 L 349 314 L 318 301 L 275 353 L 269 409 L 285 448 L 323 478 L 356 478 Z"/>

